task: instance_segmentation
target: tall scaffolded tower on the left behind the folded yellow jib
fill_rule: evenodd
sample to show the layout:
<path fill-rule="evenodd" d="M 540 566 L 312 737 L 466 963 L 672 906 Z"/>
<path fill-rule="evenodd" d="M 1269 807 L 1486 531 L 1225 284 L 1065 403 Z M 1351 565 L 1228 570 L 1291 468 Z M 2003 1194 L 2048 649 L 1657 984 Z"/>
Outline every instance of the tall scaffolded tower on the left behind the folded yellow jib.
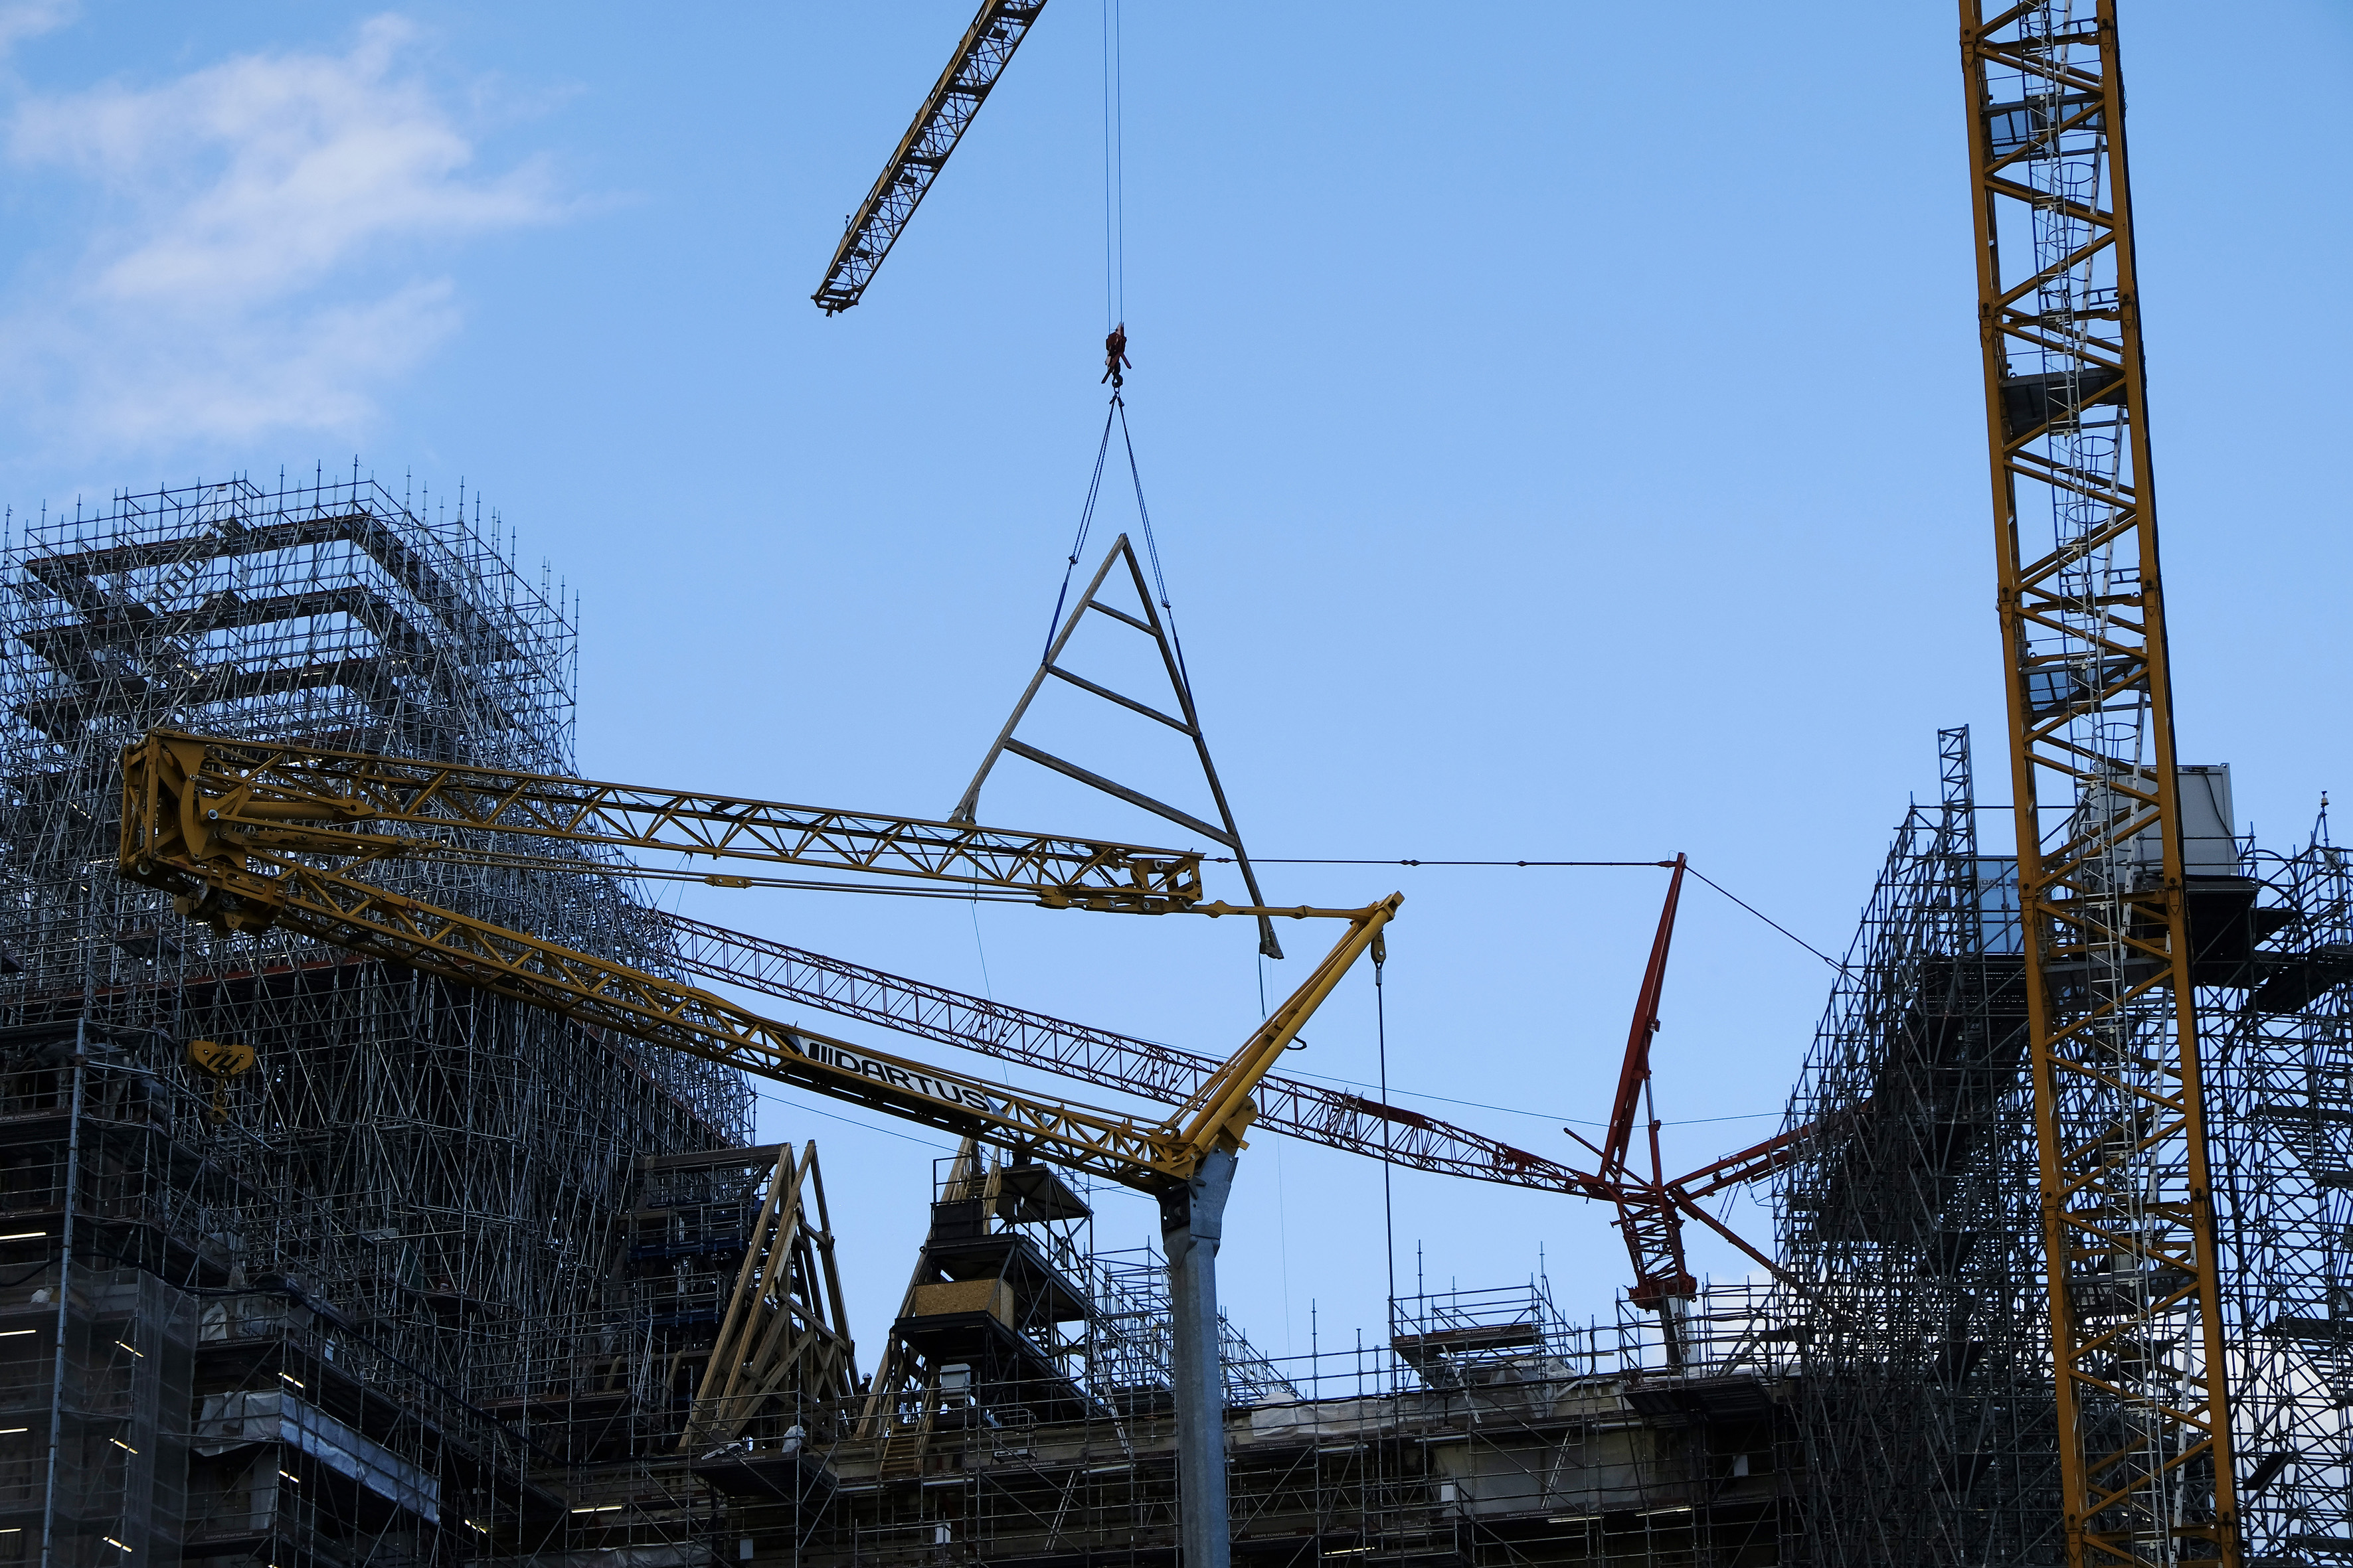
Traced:
<path fill-rule="evenodd" d="M 631 1410 L 682 1413 L 678 1333 L 640 1321 L 616 1253 L 642 1161 L 751 1143 L 744 1081 L 289 931 L 214 931 L 106 870 L 120 750 L 160 722 L 569 769 L 553 585 L 520 581 L 478 510 L 358 475 L 118 494 L 19 529 L 0 1356 L 40 1410 L 0 1432 L 0 1554 L 560 1542 L 534 1389 L 595 1363 Z M 391 875 L 661 964 L 612 879 Z M 673 1420 L 631 1448 L 675 1441 Z"/>

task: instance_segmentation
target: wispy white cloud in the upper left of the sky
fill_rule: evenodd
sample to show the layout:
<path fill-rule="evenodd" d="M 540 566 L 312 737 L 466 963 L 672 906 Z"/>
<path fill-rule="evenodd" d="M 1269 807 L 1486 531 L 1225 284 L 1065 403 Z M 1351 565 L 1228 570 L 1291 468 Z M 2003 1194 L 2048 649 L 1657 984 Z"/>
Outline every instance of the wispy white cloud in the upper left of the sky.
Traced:
<path fill-rule="evenodd" d="M 442 252 L 565 207 L 536 165 L 475 174 L 412 54 L 414 28 L 379 16 L 346 54 L 19 103 L 9 155 L 64 172 L 96 214 L 7 310 L 0 383 L 45 435 L 353 430 L 456 329 Z"/>

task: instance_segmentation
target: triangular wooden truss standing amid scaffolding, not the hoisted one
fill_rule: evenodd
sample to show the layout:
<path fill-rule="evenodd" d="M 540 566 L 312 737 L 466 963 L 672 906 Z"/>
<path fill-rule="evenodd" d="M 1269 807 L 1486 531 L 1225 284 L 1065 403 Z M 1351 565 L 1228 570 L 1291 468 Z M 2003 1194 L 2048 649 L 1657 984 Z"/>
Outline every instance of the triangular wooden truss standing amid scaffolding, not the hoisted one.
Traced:
<path fill-rule="evenodd" d="M 798 1154 L 786 1143 L 678 1448 L 708 1453 L 746 1434 L 781 1439 L 791 1427 L 835 1427 L 856 1394 L 816 1143 Z"/>

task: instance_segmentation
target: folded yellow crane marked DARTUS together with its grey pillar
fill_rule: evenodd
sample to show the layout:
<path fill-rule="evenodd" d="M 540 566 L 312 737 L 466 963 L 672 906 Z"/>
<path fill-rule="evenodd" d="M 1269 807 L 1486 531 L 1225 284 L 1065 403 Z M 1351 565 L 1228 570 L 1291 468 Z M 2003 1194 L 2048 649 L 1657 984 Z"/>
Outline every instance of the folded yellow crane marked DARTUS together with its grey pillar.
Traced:
<path fill-rule="evenodd" d="M 638 875 L 600 858 L 612 851 L 774 867 L 706 877 L 727 886 L 793 884 L 776 872 L 809 867 L 946 882 L 1047 907 L 1261 912 L 1207 903 L 1200 856 L 1191 851 L 174 731 L 153 731 L 122 752 L 120 872 L 169 891 L 181 914 L 224 931 L 294 931 L 1155 1197 L 1174 1312 L 1186 1561 L 1226 1563 L 1217 1246 L 1235 1154 L 1257 1117 L 1259 1081 L 1355 959 L 1369 950 L 1379 961 L 1381 931 L 1402 896 L 1360 910 L 1271 910 L 1341 919 L 1346 931 L 1172 1117 L 1144 1121 L 788 1027 L 713 992 L 369 877 L 402 863 Z"/>

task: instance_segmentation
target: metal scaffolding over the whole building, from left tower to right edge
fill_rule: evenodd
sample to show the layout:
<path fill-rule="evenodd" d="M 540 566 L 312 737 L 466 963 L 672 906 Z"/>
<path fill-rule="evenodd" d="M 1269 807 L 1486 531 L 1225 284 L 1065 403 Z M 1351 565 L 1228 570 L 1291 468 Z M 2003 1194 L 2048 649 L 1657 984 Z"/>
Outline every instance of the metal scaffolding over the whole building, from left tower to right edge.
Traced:
<path fill-rule="evenodd" d="M 732 1072 L 113 875 L 153 724 L 567 773 L 569 621 L 480 517 L 367 480 L 118 496 L 0 581 L 0 1566 L 1167 1561 L 1167 1265 L 1094 1251 L 1085 1178 L 934 1173 L 859 1380 L 814 1152 L 753 1147 Z M 1967 731 L 1939 759 L 1791 1100 L 1781 1279 L 1706 1286 L 1680 1361 L 1541 1279 L 1297 1359 L 1221 1324 L 1238 1552 L 2061 1559 L 2017 863 Z M 2193 776 L 2247 1544 L 2313 1561 L 2353 1552 L 2353 865 L 2325 823 L 2231 839 L 2226 771 Z M 708 973 L 591 870 L 384 877 Z"/>

